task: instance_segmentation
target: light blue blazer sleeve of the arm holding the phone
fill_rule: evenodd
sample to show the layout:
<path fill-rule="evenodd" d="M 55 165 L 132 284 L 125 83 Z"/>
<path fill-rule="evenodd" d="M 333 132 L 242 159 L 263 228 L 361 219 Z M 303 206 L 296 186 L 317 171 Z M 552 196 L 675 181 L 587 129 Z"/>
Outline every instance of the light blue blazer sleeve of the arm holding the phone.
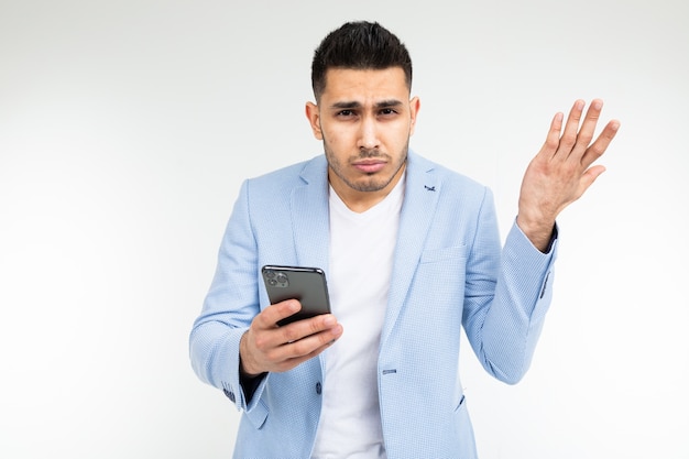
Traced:
<path fill-rule="evenodd" d="M 251 409 L 239 374 L 239 341 L 260 312 L 256 272 L 256 241 L 244 182 L 225 230 L 201 314 L 189 335 L 194 371 L 201 381 L 220 389 L 238 409 Z M 264 385 L 265 378 L 256 394 Z"/>

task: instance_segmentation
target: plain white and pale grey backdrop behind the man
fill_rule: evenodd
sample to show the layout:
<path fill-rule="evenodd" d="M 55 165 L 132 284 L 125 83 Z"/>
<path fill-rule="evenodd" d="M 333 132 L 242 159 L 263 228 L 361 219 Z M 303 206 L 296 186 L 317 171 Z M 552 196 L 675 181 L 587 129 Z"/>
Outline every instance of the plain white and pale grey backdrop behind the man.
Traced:
<path fill-rule="evenodd" d="M 0 0 L 0 457 L 231 455 L 192 321 L 241 181 L 320 153 L 313 50 L 369 19 L 412 53 L 412 147 L 490 185 L 503 234 L 556 111 L 622 121 L 531 372 L 462 356 L 481 457 L 688 458 L 686 4 Z"/>

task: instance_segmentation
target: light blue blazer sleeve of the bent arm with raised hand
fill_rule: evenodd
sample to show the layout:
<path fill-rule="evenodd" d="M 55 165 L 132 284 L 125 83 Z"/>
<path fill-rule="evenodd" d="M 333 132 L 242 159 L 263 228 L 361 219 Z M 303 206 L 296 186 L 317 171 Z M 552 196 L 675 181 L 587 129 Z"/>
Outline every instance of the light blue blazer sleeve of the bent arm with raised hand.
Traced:
<path fill-rule="evenodd" d="M 494 256 L 495 244 L 500 249 L 496 228 L 489 192 L 468 260 L 462 324 L 483 368 L 515 384 L 528 370 L 550 305 L 557 239 L 542 253 L 515 220 L 500 256 Z"/>

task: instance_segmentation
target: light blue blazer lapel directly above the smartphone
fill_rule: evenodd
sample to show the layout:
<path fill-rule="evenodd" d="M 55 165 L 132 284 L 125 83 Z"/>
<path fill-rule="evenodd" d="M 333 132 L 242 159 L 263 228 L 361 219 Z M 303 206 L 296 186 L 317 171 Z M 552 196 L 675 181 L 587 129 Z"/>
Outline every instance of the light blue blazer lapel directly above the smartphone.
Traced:
<path fill-rule="evenodd" d="M 303 186 L 292 192 L 292 226 L 296 261 L 300 266 L 320 267 L 327 274 L 330 243 L 328 171 L 325 156 L 306 163 Z"/>

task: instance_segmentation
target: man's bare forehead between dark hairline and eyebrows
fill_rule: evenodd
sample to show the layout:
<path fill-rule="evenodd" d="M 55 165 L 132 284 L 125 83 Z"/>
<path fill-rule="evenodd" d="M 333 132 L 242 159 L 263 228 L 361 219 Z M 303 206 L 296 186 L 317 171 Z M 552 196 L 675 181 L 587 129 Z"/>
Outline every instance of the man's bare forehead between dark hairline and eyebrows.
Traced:
<path fill-rule="evenodd" d="M 390 99 L 404 100 L 409 96 L 404 70 L 401 67 L 383 69 L 329 68 L 321 99 Z"/>

